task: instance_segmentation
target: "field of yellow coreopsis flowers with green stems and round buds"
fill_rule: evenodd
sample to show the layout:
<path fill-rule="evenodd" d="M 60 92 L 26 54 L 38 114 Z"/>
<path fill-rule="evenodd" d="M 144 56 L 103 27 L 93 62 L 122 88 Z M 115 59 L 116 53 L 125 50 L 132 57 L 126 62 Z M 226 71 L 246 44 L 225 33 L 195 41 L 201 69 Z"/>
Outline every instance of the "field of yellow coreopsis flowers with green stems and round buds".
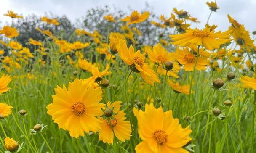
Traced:
<path fill-rule="evenodd" d="M 205 7 L 205 21 L 178 8 L 105 13 L 106 29 L 70 34 L 43 16 L 30 29 L 42 39 L 24 39 L 26 17 L 6 12 L 0 153 L 255 153 L 256 31 L 231 14 L 215 30 L 221 8 Z"/>

